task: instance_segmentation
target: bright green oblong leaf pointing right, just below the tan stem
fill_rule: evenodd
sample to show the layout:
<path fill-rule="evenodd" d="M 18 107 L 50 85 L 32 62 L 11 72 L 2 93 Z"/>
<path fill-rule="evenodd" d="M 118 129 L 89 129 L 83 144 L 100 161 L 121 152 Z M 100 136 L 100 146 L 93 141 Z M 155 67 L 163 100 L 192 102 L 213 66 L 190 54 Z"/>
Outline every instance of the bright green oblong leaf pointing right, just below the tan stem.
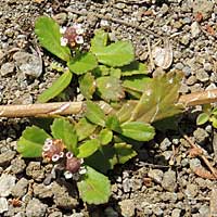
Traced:
<path fill-rule="evenodd" d="M 122 124 L 122 135 L 138 141 L 149 141 L 154 138 L 154 128 L 142 122 L 130 122 Z"/>

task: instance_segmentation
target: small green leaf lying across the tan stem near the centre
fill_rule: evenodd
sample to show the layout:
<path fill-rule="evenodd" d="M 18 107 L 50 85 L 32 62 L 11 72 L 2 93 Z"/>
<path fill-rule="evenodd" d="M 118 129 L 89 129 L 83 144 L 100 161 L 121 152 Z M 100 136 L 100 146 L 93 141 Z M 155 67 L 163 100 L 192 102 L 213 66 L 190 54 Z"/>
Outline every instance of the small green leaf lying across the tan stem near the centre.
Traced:
<path fill-rule="evenodd" d="M 87 101 L 86 117 L 93 124 L 104 127 L 105 114 L 99 105 L 91 101 Z"/>

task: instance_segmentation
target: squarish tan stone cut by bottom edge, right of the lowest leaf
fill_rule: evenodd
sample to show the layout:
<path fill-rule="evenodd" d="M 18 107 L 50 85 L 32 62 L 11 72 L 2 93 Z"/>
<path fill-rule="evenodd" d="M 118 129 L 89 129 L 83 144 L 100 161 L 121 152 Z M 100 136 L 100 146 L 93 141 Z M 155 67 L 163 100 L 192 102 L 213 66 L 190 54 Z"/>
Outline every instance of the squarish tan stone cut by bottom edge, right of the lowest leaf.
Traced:
<path fill-rule="evenodd" d="M 133 200 L 124 200 L 118 203 L 120 206 L 120 212 L 124 217 L 132 217 L 135 216 L 135 202 Z"/>

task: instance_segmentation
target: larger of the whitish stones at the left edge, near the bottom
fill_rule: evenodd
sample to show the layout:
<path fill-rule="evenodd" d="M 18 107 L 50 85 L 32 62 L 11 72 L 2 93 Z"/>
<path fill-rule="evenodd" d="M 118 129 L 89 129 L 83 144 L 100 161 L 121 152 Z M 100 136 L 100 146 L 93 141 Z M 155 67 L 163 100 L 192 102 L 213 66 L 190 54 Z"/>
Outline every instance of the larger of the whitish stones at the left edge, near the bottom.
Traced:
<path fill-rule="evenodd" d="M 10 174 L 2 174 L 0 177 L 0 196 L 9 196 L 15 186 L 16 177 Z"/>

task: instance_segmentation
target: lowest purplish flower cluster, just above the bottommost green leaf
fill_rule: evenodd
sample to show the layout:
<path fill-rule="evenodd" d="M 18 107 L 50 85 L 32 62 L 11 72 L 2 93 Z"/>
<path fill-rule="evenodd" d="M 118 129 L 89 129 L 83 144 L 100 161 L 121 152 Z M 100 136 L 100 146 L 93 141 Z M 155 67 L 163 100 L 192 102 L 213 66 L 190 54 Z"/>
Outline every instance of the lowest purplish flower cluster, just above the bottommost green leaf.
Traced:
<path fill-rule="evenodd" d="M 82 166 L 84 159 L 77 158 L 73 155 L 72 152 L 66 153 L 66 167 L 64 176 L 66 179 L 73 178 L 74 180 L 78 180 L 80 175 L 86 174 L 86 168 Z"/>

